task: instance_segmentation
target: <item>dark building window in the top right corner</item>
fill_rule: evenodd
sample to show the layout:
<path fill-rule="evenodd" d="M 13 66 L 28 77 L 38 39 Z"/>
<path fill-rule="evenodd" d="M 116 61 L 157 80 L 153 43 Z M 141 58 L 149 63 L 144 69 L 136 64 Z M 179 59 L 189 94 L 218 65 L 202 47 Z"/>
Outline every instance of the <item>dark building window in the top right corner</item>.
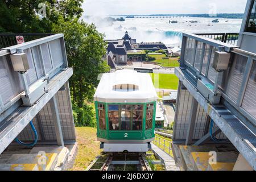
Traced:
<path fill-rule="evenodd" d="M 251 3 L 245 31 L 256 33 L 256 0 Z"/>

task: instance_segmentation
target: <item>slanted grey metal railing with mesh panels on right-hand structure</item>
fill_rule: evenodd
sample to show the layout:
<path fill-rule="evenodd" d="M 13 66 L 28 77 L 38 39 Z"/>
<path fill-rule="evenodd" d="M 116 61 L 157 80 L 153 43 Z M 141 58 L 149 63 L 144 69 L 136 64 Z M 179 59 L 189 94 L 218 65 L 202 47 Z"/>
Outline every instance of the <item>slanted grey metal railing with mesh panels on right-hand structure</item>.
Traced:
<path fill-rule="evenodd" d="M 213 69 L 215 51 L 231 53 L 229 68 L 224 72 Z M 237 111 L 256 125 L 256 54 L 243 51 L 231 44 L 203 38 L 195 34 L 183 34 L 180 67 L 187 68 L 196 80 L 204 77 L 214 86 L 213 90 Z"/>

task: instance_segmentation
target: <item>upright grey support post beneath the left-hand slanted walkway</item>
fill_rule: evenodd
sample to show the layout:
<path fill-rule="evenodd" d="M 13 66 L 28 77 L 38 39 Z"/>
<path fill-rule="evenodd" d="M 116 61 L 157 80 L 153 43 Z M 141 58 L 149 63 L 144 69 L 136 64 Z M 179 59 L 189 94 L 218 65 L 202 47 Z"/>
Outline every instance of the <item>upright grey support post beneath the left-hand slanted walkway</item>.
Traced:
<path fill-rule="evenodd" d="M 59 146 L 64 147 L 63 134 L 60 126 L 60 117 L 59 117 L 59 110 L 57 107 L 56 96 L 53 96 L 51 100 L 49 100 L 49 104 L 51 106 L 51 113 L 52 113 L 52 119 L 55 127 L 57 144 Z"/>

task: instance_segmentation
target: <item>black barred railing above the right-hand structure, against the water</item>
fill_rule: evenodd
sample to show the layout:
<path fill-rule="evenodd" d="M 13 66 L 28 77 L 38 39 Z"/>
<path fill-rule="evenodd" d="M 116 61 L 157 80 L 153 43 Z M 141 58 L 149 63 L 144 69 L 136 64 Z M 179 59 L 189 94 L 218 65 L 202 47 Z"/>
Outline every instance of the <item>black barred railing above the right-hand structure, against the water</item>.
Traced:
<path fill-rule="evenodd" d="M 236 45 L 239 33 L 207 33 L 195 35 L 200 35 L 208 39 L 218 40 L 220 42 Z"/>

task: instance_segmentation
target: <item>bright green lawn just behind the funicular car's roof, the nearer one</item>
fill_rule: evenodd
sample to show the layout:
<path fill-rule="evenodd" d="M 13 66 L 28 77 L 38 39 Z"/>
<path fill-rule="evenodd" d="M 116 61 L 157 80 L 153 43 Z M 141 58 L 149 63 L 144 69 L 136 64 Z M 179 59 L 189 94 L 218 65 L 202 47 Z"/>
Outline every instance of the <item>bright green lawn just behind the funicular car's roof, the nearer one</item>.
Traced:
<path fill-rule="evenodd" d="M 148 73 L 150 74 L 155 88 L 177 90 L 179 79 L 174 74 Z M 155 83 L 155 74 L 159 75 L 159 84 Z"/>

